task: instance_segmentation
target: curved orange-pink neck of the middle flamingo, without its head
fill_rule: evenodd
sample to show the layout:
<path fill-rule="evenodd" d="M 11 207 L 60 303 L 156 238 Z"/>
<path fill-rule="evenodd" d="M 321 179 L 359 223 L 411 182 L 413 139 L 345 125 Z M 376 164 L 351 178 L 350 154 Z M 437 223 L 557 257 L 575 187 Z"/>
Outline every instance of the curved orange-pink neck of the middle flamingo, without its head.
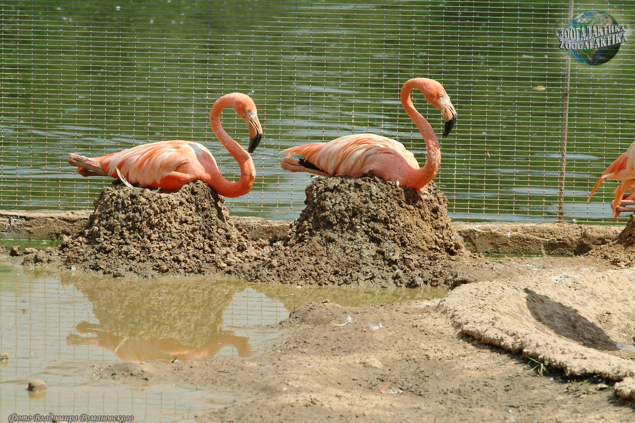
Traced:
<path fill-rule="evenodd" d="M 424 137 L 425 148 L 427 150 L 425 166 L 422 169 L 413 169 L 411 174 L 413 185 L 416 186 L 418 190 L 424 188 L 427 183 L 434 179 L 434 176 L 436 176 L 441 166 L 441 149 L 439 148 L 439 140 L 434 133 L 434 129 L 432 129 L 428 121 L 417 112 L 417 109 L 412 104 L 412 100 L 410 100 L 411 91 L 415 88 L 419 89 L 421 83 L 422 82 L 416 79 L 411 79 L 403 84 L 401 88 L 401 105 L 403 109 L 406 110 L 408 116 L 410 116 L 410 119 L 417 125 L 421 136 Z"/>

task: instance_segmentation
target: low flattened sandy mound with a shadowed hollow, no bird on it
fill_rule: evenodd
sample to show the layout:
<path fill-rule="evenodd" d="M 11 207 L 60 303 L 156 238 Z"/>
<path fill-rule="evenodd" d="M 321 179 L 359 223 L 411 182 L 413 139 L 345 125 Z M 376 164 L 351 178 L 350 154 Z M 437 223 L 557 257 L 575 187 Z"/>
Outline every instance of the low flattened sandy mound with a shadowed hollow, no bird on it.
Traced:
<path fill-rule="evenodd" d="M 635 398 L 632 271 L 533 273 L 453 290 L 438 310 L 464 334 L 569 376 L 601 375 Z"/>

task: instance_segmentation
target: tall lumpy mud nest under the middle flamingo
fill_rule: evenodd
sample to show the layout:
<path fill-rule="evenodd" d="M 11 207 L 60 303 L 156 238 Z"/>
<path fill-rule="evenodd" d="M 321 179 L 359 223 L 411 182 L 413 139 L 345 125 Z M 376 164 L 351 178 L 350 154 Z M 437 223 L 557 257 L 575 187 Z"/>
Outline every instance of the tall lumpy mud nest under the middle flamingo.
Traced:
<path fill-rule="evenodd" d="M 259 282 L 417 287 L 448 284 L 443 262 L 465 246 L 453 230 L 448 200 L 434 183 L 424 202 L 412 190 L 364 175 L 320 177 L 288 234 L 237 277 Z"/>

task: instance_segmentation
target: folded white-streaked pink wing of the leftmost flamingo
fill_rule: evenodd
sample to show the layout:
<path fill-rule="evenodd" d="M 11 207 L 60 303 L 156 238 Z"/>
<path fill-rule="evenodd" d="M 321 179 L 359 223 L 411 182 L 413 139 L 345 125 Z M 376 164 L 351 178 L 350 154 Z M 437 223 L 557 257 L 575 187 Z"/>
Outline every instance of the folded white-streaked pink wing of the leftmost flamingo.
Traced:
<path fill-rule="evenodd" d="M 210 150 L 191 141 L 163 141 L 138 145 L 128 150 L 101 157 L 102 169 L 117 178 L 119 169 L 130 183 L 147 188 L 173 189 L 163 186 L 162 181 L 170 180 L 170 185 L 181 186 L 203 176 L 203 166 L 199 160 L 211 160 L 216 164 Z M 172 181 L 180 179 L 181 181 Z M 178 186 L 180 188 L 180 186 Z M 177 188 L 177 189 L 178 189 Z"/>

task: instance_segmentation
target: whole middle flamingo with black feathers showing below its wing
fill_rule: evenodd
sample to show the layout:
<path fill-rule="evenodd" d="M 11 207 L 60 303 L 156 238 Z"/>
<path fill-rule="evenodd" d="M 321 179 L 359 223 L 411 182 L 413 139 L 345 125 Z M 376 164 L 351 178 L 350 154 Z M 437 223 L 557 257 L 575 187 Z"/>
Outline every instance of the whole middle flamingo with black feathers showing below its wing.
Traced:
<path fill-rule="evenodd" d="M 420 169 L 415 156 L 399 141 L 375 134 L 356 134 L 337 138 L 328 143 L 298 145 L 283 150 L 283 169 L 291 172 L 309 172 L 322 176 L 345 175 L 359 178 L 370 173 L 385 181 L 394 181 L 419 193 L 427 192 L 425 185 L 434 179 L 441 164 L 439 140 L 434 129 L 417 112 L 410 100 L 410 93 L 418 89 L 425 100 L 441 110 L 445 119 L 443 138 L 450 134 L 457 121 L 457 111 L 450 102 L 443 85 L 434 79 L 415 78 L 406 81 L 401 88 L 401 105 L 415 122 L 424 137 L 427 161 Z M 299 155 L 302 159 L 291 159 Z"/>

